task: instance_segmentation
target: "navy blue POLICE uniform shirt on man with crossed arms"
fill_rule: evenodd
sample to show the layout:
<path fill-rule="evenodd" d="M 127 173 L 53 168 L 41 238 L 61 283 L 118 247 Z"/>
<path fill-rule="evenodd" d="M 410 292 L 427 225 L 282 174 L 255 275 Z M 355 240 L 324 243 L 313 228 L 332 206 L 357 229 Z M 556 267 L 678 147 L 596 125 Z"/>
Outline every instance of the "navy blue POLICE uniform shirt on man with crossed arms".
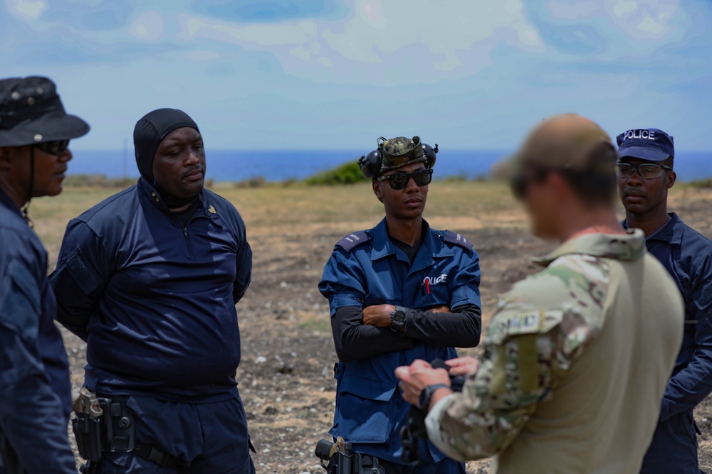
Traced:
<path fill-rule="evenodd" d="M 386 221 L 342 239 L 325 266 L 319 290 L 329 300 L 334 318 L 342 308 L 392 304 L 426 311 L 447 306 L 454 313 L 412 311 L 404 333 L 362 324 L 350 327 L 352 345 L 370 346 L 372 355 L 341 360 L 336 367 L 337 397 L 330 433 L 354 443 L 354 451 L 402 463 L 400 429 L 410 405 L 397 389 L 396 367 L 414 360 L 449 360 L 454 348 L 434 340 L 479 343 L 480 318 L 456 314 L 458 308 L 479 307 L 480 268 L 477 252 L 453 232 L 424 229 L 424 241 L 410 262 L 387 232 Z M 471 321 L 471 320 L 476 321 Z M 470 320 L 470 321 L 468 321 Z M 445 334 L 444 334 L 445 333 Z M 340 335 L 335 335 L 335 338 Z M 340 341 L 336 341 L 337 348 Z M 451 345 L 455 345 L 451 343 Z M 439 461 L 444 455 L 433 445 L 421 452 Z"/>

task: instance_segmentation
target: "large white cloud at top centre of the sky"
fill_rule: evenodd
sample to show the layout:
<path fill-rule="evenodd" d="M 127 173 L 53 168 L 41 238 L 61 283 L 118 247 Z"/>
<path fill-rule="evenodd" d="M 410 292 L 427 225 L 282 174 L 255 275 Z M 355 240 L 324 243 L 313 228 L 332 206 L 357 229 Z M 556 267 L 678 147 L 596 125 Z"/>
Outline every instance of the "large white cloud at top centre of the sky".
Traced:
<path fill-rule="evenodd" d="M 355 0 L 353 14 L 341 21 L 242 25 L 187 14 L 178 21 L 182 39 L 267 50 L 289 72 L 303 74 L 303 63 L 310 63 L 317 75 L 337 70 L 366 82 L 383 79 L 372 68 L 393 63 L 411 65 L 403 74 L 417 82 L 417 76 L 433 80 L 429 72 L 471 74 L 491 63 L 488 55 L 501 42 L 544 50 L 521 0 Z"/>

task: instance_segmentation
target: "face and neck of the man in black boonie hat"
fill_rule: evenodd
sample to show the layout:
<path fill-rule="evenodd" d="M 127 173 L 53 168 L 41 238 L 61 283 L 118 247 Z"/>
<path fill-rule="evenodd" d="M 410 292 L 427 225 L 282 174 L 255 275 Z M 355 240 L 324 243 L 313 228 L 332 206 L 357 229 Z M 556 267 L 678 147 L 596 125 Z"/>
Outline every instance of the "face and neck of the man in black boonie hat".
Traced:
<path fill-rule="evenodd" d="M 0 147 L 0 188 L 11 198 L 18 208 L 28 201 L 30 188 L 31 159 L 33 146 Z M 40 149 L 35 152 L 35 180 L 33 198 L 56 196 L 62 192 L 62 182 L 66 177 L 67 163 L 72 159 L 69 149 L 51 155 Z"/>

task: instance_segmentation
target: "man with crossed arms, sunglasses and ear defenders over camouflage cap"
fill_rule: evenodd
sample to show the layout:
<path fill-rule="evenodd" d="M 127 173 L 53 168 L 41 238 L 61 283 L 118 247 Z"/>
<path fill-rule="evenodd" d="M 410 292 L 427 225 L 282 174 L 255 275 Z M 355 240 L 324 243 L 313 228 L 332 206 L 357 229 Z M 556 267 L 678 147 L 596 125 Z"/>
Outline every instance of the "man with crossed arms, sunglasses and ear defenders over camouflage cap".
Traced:
<path fill-rule="evenodd" d="M 360 159 L 386 216 L 336 244 L 319 284 L 339 357 L 330 433 L 387 473 L 465 472 L 426 441 L 419 463 L 406 465 L 399 439 L 409 405 L 394 370 L 417 359 L 453 359 L 453 346 L 480 340 L 478 254 L 461 235 L 423 219 L 436 151 L 417 136 L 381 138 Z"/>

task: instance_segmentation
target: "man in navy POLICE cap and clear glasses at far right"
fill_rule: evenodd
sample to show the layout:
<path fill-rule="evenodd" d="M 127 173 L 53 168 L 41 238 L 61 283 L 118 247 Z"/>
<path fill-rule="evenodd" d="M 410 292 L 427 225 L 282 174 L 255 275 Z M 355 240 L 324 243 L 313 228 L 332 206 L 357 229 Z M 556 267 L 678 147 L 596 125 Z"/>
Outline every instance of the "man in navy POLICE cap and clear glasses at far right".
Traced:
<path fill-rule="evenodd" d="M 675 183 L 673 137 L 659 129 L 618 136 L 618 185 L 626 227 L 645 232 L 685 302 L 684 339 L 643 460 L 643 474 L 698 474 L 693 409 L 712 392 L 712 242 L 668 212 Z"/>

